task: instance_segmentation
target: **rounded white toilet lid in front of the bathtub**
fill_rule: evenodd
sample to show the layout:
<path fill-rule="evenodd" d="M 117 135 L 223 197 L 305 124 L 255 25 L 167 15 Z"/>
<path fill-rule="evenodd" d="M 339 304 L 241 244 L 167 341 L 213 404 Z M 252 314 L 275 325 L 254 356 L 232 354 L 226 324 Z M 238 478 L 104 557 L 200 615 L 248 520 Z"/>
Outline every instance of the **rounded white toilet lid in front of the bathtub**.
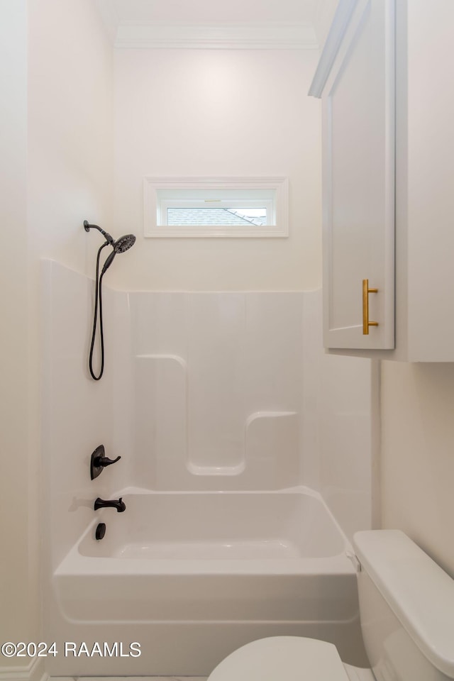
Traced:
<path fill-rule="evenodd" d="M 207 681 L 348 681 L 348 676 L 332 643 L 272 636 L 235 650 Z"/>

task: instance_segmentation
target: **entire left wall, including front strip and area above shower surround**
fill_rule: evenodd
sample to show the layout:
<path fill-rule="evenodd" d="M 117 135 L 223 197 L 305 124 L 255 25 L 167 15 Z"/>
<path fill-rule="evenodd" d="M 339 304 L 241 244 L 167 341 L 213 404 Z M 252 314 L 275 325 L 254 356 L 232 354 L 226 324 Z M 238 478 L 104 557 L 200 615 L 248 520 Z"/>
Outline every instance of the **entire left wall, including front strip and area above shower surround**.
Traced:
<path fill-rule="evenodd" d="M 94 268 L 82 221 L 109 216 L 112 55 L 91 0 L 2 1 L 0 31 L 0 638 L 40 641 L 39 258 Z"/>

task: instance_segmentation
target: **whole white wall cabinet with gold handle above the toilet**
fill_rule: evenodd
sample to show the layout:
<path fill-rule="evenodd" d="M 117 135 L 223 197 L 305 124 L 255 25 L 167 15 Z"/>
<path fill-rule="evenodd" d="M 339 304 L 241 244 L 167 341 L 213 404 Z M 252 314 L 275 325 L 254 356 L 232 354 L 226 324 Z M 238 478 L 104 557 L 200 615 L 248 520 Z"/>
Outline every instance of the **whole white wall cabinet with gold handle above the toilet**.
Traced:
<path fill-rule="evenodd" d="M 331 353 L 454 361 L 453 6 L 338 4 L 310 91 L 322 100 Z"/>

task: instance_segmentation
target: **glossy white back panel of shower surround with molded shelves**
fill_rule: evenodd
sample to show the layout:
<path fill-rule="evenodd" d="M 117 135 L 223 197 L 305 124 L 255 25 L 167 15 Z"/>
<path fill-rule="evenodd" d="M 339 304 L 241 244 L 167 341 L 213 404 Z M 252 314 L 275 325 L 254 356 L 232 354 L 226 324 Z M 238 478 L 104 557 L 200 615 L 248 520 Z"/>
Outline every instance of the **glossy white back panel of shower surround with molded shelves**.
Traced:
<path fill-rule="evenodd" d="M 140 486 L 294 484 L 301 437 L 299 298 L 130 294 Z"/>

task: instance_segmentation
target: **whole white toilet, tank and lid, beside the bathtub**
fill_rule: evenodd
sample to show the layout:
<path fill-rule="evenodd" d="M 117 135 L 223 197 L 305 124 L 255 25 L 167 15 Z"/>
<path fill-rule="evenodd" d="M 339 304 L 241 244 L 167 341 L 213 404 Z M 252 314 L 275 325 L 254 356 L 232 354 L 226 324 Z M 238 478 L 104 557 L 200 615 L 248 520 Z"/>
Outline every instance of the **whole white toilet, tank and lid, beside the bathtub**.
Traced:
<path fill-rule="evenodd" d="M 355 534 L 358 594 L 370 669 L 336 646 L 273 636 L 238 648 L 208 681 L 447 681 L 454 679 L 454 580 L 399 530 Z"/>

